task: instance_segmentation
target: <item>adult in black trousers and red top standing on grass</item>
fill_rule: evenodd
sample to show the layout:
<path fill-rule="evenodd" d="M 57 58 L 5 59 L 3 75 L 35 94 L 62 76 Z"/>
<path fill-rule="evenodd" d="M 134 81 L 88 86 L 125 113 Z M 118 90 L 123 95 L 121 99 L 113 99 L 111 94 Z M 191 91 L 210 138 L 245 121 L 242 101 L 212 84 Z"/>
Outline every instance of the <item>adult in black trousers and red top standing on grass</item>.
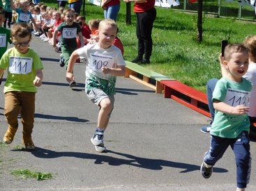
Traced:
<path fill-rule="evenodd" d="M 153 42 L 151 38 L 153 22 L 156 19 L 156 0 L 124 0 L 127 2 L 135 1 L 134 12 L 137 15 L 137 39 L 138 51 L 137 57 L 133 63 L 150 63 Z M 143 58 L 144 56 L 144 58 Z"/>

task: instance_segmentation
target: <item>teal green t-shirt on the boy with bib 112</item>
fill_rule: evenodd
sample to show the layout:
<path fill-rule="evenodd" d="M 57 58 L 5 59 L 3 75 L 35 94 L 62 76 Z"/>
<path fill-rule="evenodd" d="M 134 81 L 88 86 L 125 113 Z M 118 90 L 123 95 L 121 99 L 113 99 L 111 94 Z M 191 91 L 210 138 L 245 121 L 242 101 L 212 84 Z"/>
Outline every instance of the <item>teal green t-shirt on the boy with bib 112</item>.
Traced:
<path fill-rule="evenodd" d="M 218 100 L 229 106 L 248 106 L 249 94 L 252 89 L 250 81 L 243 78 L 241 83 L 221 78 L 213 91 L 213 101 Z M 221 138 L 237 138 L 242 131 L 249 131 L 248 115 L 231 115 L 215 110 L 211 135 Z"/>

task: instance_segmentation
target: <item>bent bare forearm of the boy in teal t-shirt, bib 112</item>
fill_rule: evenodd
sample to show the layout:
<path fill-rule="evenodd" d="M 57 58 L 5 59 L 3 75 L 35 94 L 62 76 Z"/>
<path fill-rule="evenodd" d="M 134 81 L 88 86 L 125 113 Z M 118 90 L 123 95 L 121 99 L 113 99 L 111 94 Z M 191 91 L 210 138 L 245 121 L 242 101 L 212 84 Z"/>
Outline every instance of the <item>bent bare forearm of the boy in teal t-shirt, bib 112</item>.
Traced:
<path fill-rule="evenodd" d="M 229 106 L 227 103 L 224 103 L 222 101 L 213 101 L 213 108 L 216 110 L 219 110 L 222 113 L 228 113 L 228 114 L 233 114 L 233 115 L 243 115 L 249 112 L 249 107 L 248 106 Z"/>

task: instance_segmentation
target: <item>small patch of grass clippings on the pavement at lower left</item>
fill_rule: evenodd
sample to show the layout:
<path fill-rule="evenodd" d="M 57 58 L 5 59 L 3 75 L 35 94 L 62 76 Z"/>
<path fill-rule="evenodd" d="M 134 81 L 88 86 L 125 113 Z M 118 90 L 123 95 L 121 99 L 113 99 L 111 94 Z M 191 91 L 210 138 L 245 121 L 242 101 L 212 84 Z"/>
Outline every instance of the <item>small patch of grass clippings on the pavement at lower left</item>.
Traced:
<path fill-rule="evenodd" d="M 20 178 L 36 178 L 38 181 L 43 181 L 52 178 L 52 174 L 43 172 L 33 172 L 29 169 L 16 169 L 11 172 L 14 176 Z"/>

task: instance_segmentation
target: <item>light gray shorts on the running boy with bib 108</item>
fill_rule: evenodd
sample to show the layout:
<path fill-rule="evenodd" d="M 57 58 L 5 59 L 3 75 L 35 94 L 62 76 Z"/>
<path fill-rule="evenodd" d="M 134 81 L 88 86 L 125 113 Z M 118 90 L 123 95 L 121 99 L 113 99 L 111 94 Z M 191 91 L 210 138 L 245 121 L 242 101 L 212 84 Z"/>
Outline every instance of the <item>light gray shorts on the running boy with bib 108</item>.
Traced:
<path fill-rule="evenodd" d="M 86 92 L 86 96 L 89 98 L 89 100 L 91 100 L 94 104 L 96 104 L 97 106 L 100 107 L 100 101 L 108 98 L 110 99 L 111 103 L 112 103 L 112 110 L 114 109 L 114 95 L 107 95 L 105 92 L 103 92 L 103 90 L 98 89 L 98 88 L 93 88 L 91 90 L 89 90 L 88 92 Z M 110 114 L 112 113 L 112 111 L 110 112 Z M 109 115 L 110 117 L 110 115 Z"/>

